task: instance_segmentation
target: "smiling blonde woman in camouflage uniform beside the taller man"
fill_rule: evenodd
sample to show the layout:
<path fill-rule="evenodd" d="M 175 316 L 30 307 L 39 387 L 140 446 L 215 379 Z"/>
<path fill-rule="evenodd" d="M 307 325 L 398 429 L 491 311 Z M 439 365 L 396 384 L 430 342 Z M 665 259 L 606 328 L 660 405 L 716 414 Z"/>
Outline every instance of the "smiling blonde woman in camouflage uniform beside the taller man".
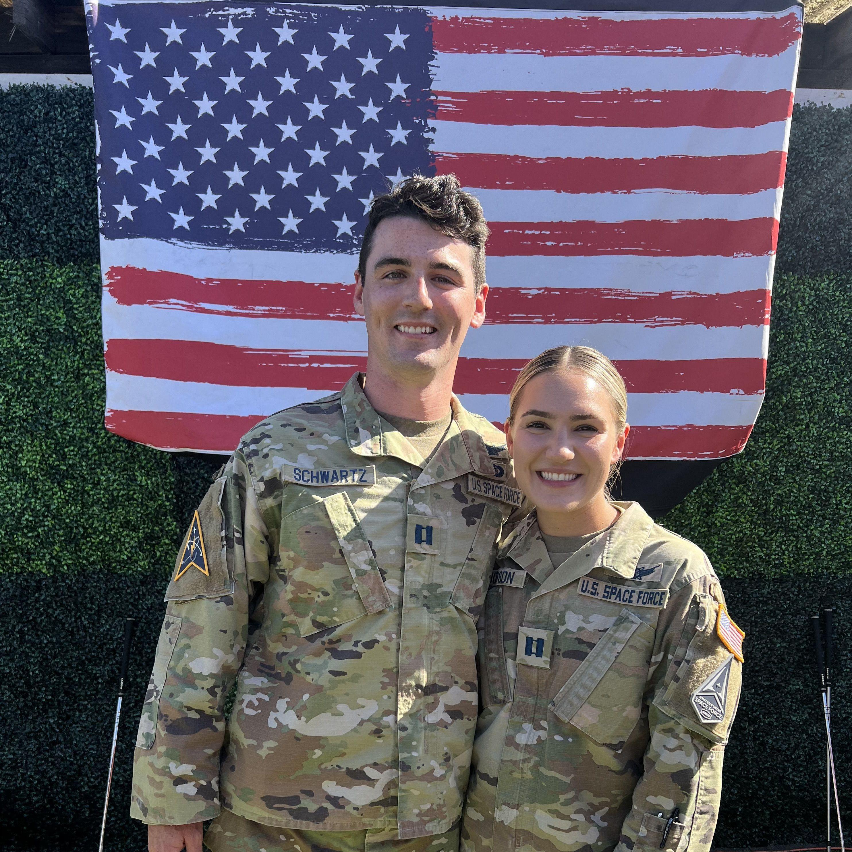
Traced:
<path fill-rule="evenodd" d="M 466 852 L 704 852 L 740 698 L 742 631 L 707 557 L 616 503 L 625 383 L 595 349 L 521 371 L 506 422 L 535 507 L 480 624 Z"/>

